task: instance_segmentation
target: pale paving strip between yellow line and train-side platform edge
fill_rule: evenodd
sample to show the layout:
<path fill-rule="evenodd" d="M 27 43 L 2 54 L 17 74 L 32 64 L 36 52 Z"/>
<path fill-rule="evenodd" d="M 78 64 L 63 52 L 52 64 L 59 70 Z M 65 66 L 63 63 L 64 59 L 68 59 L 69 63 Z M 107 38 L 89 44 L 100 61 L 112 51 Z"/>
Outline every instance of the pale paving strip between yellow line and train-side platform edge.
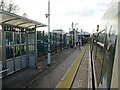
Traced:
<path fill-rule="evenodd" d="M 76 74 L 72 88 L 88 88 L 88 61 L 89 49 L 87 48 L 85 55 L 81 61 L 79 70 Z"/>

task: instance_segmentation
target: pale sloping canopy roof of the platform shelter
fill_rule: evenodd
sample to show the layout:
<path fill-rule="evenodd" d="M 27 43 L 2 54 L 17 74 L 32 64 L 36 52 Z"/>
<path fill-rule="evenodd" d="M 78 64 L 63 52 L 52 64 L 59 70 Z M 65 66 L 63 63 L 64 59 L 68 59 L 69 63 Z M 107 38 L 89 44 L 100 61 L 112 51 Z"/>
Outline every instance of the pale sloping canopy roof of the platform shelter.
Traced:
<path fill-rule="evenodd" d="M 45 27 L 47 25 L 13 14 L 9 13 L 4 10 L 0 10 L 0 24 L 9 24 L 9 25 L 14 25 L 18 27 L 24 27 L 24 28 L 38 28 L 38 27 Z"/>

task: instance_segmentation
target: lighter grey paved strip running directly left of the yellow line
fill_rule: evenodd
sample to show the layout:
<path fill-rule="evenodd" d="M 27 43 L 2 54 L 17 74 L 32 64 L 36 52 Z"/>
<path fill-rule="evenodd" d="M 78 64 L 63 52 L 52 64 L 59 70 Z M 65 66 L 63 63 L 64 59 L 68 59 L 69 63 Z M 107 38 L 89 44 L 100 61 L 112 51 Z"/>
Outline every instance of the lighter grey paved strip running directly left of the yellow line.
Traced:
<path fill-rule="evenodd" d="M 76 49 L 66 58 L 66 60 L 60 63 L 55 69 L 53 69 L 43 78 L 38 79 L 38 81 L 31 85 L 30 88 L 55 88 L 79 53 L 80 50 Z"/>

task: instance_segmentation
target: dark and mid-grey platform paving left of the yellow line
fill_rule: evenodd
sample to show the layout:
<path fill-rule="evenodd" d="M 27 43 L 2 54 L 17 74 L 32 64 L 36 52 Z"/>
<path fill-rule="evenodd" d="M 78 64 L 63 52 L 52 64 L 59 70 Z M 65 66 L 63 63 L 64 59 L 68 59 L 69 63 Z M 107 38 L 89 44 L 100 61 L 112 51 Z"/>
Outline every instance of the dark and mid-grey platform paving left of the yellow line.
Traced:
<path fill-rule="evenodd" d="M 18 71 L 7 78 L 2 80 L 3 88 L 23 88 L 34 83 L 36 77 L 39 77 L 40 80 L 44 82 L 41 84 L 43 87 L 55 87 L 57 82 L 62 77 L 61 75 L 69 68 L 69 65 L 73 62 L 75 56 L 79 50 L 73 48 L 66 49 L 59 53 L 54 54 L 51 57 L 51 66 L 47 66 L 47 58 L 44 58 L 38 63 L 38 69 L 26 68 L 21 71 Z M 70 57 L 69 57 L 70 56 Z M 74 57 L 73 57 L 74 56 Z M 68 58 L 69 57 L 69 58 Z M 71 60 L 72 59 L 72 60 Z M 64 62 L 64 65 L 61 64 Z M 60 64 L 60 66 L 59 66 Z M 59 68 L 57 68 L 59 66 Z M 52 68 L 52 69 L 51 69 Z M 53 71 L 54 70 L 54 71 Z M 59 72 L 60 71 L 60 72 Z M 50 74 L 53 73 L 54 74 Z M 48 78 L 45 78 L 45 76 Z M 61 77 L 59 77 L 61 76 Z M 56 80 L 54 79 L 56 77 Z M 54 79 L 54 80 L 53 80 Z M 47 82 L 47 83 L 46 83 Z M 53 83 L 52 85 L 50 83 Z M 48 85 L 50 84 L 50 85 Z M 33 85 L 34 87 L 34 85 Z M 39 87 L 39 85 L 37 86 Z M 36 88 L 36 87 L 35 87 Z"/>

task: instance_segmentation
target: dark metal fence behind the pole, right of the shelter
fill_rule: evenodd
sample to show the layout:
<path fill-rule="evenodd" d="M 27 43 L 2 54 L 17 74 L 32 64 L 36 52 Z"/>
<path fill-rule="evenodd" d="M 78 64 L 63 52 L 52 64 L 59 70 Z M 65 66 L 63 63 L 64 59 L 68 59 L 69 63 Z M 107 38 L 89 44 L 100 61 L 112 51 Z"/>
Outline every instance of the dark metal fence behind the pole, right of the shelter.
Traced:
<path fill-rule="evenodd" d="M 66 34 L 50 32 L 50 50 L 51 53 L 57 53 L 63 49 L 69 48 L 70 37 Z M 47 55 L 48 34 L 44 31 L 37 31 L 37 57 L 42 58 Z"/>

